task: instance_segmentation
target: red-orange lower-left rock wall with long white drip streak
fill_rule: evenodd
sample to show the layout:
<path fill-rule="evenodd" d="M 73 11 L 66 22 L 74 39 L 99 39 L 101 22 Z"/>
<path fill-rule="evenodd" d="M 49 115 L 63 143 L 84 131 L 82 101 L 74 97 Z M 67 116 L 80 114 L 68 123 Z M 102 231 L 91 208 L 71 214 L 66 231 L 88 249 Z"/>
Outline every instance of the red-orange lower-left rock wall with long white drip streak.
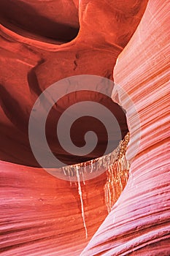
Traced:
<path fill-rule="evenodd" d="M 88 181 L 64 181 L 40 168 L 0 162 L 0 254 L 80 255 L 127 183 L 127 143 L 126 138 L 107 172 Z"/>

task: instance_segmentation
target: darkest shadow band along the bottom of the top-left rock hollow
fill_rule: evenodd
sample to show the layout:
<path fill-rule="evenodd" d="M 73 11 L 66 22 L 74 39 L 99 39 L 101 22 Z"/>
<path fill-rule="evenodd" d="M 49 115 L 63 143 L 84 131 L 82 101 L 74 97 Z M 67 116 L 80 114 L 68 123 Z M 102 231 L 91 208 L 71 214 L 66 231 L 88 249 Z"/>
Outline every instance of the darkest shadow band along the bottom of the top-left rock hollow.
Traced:
<path fill-rule="evenodd" d="M 56 15 L 57 13 L 58 10 Z M 33 7 L 22 1 L 1 0 L 0 23 L 18 34 L 29 37 L 30 33 L 31 37 L 40 36 L 44 37 L 44 41 L 52 39 L 59 43 L 72 41 L 79 32 L 79 27 L 66 24 L 64 20 L 55 22 L 40 15 Z"/>

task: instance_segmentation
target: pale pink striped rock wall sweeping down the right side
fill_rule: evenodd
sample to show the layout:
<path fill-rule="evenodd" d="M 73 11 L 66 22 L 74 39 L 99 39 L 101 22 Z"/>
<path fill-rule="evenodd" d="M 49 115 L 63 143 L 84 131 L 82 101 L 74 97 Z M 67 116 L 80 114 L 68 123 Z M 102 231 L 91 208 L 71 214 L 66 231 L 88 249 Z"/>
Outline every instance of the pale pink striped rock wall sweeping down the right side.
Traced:
<path fill-rule="evenodd" d="M 130 178 L 81 255 L 170 254 L 169 39 L 169 3 L 151 0 L 114 70 L 112 98 L 127 111 L 131 134 Z"/>

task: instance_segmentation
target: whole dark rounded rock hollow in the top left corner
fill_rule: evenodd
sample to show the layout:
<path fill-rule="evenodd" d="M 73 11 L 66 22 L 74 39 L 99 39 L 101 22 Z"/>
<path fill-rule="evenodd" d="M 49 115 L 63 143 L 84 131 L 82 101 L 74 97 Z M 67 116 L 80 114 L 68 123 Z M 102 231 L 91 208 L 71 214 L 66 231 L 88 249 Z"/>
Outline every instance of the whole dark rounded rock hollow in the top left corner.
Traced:
<path fill-rule="evenodd" d="M 77 0 L 1 0 L 0 10 L 1 24 L 24 37 L 62 44 L 79 31 Z"/>

